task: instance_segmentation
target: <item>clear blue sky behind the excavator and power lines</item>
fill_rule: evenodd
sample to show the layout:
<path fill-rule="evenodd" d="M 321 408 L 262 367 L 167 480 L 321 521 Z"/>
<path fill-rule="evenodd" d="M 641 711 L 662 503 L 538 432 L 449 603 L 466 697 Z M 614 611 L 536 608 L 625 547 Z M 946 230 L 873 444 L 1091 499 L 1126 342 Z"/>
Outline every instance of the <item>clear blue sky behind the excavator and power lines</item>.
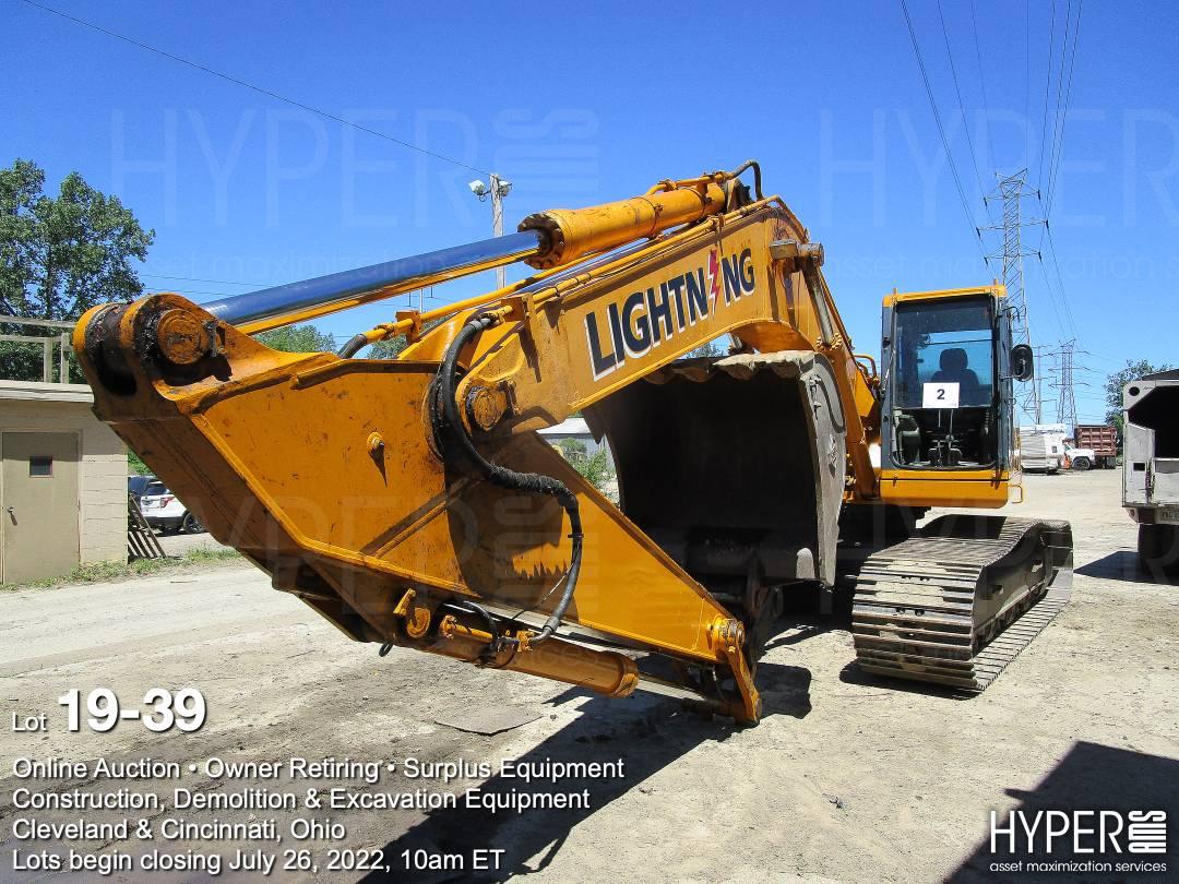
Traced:
<path fill-rule="evenodd" d="M 1052 166 L 1046 159 L 1041 173 L 1039 157 L 1048 0 L 975 0 L 977 29 L 970 4 L 943 0 L 946 37 L 937 4 L 909 0 L 970 222 L 898 2 L 666 12 L 633 2 L 46 2 L 498 171 L 515 183 L 508 230 L 532 211 L 633 196 L 661 178 L 756 157 L 766 190 L 824 243 L 841 310 L 857 348 L 871 352 L 880 298 L 894 286 L 999 273 L 983 266 L 971 231 L 988 223 L 977 178 L 989 190 L 996 169 L 1027 166 L 1030 187 L 1046 190 Z M 1050 209 L 1062 278 L 1047 242 L 1050 285 L 1035 258 L 1026 278 L 1034 343 L 1075 335 L 1091 354 L 1079 357 L 1092 387 L 1078 402 L 1091 420 L 1104 414 L 1106 372 L 1125 359 L 1179 362 L 1179 7 L 1080 2 L 1055 0 L 1054 68 L 1066 12 L 1075 22 L 1081 9 Z M 489 235 L 488 205 L 466 190 L 476 177 L 469 169 L 20 0 L 0 0 L 0 160 L 35 160 L 52 187 L 77 170 L 117 192 L 156 229 L 144 268 L 153 290 L 204 301 Z M 1048 145 L 1055 110 L 1053 84 Z M 1045 212 L 1034 198 L 1025 205 Z M 1026 235 L 1026 248 L 1039 248 L 1040 230 Z M 996 248 L 992 235 L 986 249 Z M 483 275 L 436 295 L 492 282 Z M 404 298 L 321 325 L 343 339 L 396 306 Z"/>

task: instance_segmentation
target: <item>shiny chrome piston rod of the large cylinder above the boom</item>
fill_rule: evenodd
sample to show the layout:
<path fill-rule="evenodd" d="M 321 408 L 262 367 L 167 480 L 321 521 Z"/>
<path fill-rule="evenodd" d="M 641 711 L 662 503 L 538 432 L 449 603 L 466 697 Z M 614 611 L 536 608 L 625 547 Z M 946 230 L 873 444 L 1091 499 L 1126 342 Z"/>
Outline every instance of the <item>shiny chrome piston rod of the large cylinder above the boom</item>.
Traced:
<path fill-rule="evenodd" d="M 210 301 L 202 306 L 248 334 L 312 319 L 371 301 L 401 295 L 539 253 L 545 233 L 526 230 L 449 249 L 344 270 L 270 289 Z"/>

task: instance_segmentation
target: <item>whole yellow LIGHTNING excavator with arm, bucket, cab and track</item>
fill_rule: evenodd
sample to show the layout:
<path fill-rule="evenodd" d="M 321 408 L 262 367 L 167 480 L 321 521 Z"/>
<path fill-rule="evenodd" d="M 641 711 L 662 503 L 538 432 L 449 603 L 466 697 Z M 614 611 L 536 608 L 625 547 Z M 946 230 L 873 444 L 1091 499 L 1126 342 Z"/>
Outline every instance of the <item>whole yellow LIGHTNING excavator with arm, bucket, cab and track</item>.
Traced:
<path fill-rule="evenodd" d="M 894 292 L 877 368 L 823 259 L 749 161 L 215 303 L 101 305 L 73 345 L 95 414 L 213 537 L 382 654 L 755 724 L 783 594 L 850 582 L 861 668 L 982 690 L 1067 600 L 1068 523 L 916 525 L 1019 488 L 1030 351 L 1001 285 Z M 513 262 L 534 272 L 338 354 L 251 337 Z M 577 414 L 618 504 L 538 434 Z"/>

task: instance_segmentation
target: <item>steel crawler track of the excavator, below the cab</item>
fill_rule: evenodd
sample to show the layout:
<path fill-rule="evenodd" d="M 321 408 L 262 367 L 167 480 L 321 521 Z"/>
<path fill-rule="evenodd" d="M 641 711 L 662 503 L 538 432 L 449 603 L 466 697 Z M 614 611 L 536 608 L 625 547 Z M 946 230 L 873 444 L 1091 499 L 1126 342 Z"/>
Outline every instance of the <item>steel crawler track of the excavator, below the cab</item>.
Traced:
<path fill-rule="evenodd" d="M 861 566 L 859 668 L 983 691 L 1068 602 L 1072 563 L 1067 522 L 942 516 Z"/>

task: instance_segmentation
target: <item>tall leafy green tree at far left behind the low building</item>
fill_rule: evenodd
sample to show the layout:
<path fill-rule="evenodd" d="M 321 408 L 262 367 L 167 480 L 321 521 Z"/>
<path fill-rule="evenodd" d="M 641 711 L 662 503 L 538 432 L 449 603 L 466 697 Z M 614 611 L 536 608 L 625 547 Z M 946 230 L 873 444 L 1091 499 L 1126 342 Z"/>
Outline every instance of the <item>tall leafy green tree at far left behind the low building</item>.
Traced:
<path fill-rule="evenodd" d="M 147 258 L 156 231 L 77 172 L 55 198 L 44 187 L 35 163 L 18 159 L 0 170 L 0 306 L 17 316 L 77 319 L 95 304 L 141 295 L 131 262 Z"/>

